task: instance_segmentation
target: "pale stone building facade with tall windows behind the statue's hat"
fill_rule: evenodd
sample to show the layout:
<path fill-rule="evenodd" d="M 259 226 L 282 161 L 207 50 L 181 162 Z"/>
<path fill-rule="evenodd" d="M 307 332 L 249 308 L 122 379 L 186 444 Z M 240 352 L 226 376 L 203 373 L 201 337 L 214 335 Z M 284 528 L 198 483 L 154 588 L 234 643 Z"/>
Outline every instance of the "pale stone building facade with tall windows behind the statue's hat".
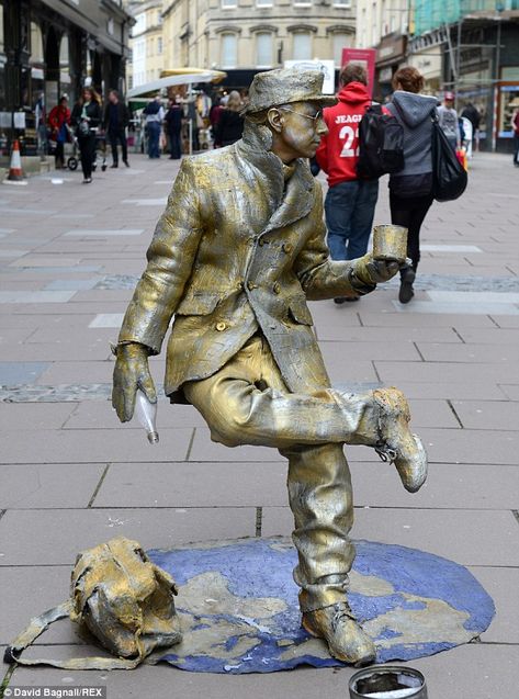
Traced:
<path fill-rule="evenodd" d="M 165 63 L 225 70 L 247 87 L 285 60 L 334 60 L 354 45 L 356 0 L 166 0 Z"/>

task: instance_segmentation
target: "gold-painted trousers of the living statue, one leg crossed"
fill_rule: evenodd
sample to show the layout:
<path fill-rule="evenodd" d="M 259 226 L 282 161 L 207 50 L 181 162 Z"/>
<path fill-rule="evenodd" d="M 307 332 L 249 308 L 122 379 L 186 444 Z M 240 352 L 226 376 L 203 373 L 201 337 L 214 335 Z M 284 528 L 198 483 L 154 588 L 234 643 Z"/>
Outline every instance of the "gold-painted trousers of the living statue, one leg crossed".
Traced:
<path fill-rule="evenodd" d="M 372 392 L 290 393 L 261 335 L 215 374 L 184 384 L 183 391 L 205 418 L 213 441 L 275 447 L 287 458 L 301 608 L 312 611 L 343 600 L 354 559 L 343 443 L 374 446 L 380 440 Z"/>

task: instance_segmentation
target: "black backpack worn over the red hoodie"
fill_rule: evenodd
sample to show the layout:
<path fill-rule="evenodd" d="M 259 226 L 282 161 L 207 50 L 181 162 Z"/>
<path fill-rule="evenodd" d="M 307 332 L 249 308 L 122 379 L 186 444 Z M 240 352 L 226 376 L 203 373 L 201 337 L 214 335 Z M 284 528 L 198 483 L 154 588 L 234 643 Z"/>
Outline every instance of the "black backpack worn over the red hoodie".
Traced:
<path fill-rule="evenodd" d="M 381 104 L 372 104 L 359 125 L 360 180 L 375 180 L 404 169 L 404 128 L 394 116 L 384 114 Z"/>

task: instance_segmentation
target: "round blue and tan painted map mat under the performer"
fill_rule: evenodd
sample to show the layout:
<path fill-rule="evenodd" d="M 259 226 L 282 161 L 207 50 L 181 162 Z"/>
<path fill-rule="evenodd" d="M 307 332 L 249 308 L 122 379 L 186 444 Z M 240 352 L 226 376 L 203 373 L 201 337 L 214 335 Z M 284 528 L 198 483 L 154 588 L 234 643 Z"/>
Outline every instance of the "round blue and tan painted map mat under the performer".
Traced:
<path fill-rule="evenodd" d="M 191 672 L 237 674 L 341 665 L 301 629 L 290 540 L 215 541 L 148 555 L 180 586 L 184 640 L 160 659 Z M 416 549 L 357 542 L 350 583 L 351 607 L 375 640 L 380 663 L 467 643 L 495 613 L 466 568 Z"/>

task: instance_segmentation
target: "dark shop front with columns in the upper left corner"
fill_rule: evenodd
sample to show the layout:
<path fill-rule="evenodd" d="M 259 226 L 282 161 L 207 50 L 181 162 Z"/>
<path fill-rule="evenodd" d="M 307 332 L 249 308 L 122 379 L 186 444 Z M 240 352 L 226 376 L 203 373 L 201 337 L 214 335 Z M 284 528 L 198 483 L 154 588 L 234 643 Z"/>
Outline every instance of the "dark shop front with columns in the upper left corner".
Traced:
<path fill-rule="evenodd" d="M 45 151 L 46 115 L 86 81 L 125 90 L 132 19 L 115 0 L 0 0 L 0 146 Z M 9 27 L 9 31 L 7 31 Z"/>

